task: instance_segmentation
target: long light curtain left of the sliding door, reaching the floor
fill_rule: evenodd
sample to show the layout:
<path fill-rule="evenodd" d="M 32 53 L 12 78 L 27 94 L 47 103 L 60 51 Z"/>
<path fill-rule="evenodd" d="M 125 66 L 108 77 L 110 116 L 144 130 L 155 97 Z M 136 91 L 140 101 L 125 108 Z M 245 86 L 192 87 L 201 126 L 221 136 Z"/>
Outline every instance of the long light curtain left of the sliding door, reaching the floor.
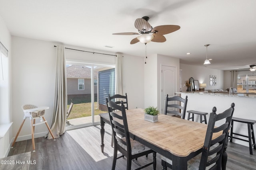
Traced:
<path fill-rule="evenodd" d="M 56 88 L 54 100 L 54 115 L 51 131 L 55 138 L 65 132 L 67 114 L 67 82 L 66 82 L 66 59 L 65 47 L 57 45 L 57 67 L 56 67 Z M 48 139 L 52 136 L 48 134 Z"/>

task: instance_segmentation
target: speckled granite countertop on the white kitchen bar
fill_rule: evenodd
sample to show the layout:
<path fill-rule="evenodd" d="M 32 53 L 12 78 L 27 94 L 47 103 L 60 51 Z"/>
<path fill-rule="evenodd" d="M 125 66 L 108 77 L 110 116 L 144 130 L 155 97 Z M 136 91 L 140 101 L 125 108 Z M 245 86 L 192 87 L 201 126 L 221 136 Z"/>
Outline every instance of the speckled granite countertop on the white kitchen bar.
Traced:
<path fill-rule="evenodd" d="M 208 92 L 176 92 L 176 94 L 195 94 L 195 95 L 211 95 L 211 96 L 228 96 L 228 97 L 242 97 L 242 98 L 256 98 L 255 94 L 226 94 L 226 93 L 208 93 Z"/>

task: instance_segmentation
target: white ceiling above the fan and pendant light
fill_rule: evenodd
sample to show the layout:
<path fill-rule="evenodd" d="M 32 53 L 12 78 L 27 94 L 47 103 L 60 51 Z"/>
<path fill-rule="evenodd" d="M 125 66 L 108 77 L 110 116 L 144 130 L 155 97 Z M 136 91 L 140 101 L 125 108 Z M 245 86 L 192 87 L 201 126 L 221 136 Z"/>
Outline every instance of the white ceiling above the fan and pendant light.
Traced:
<path fill-rule="evenodd" d="M 208 68 L 256 64 L 255 0 L 0 0 L 0 15 L 12 35 L 140 57 L 145 45 L 130 45 L 136 35 L 112 33 L 138 32 L 134 21 L 148 16 L 152 27 L 181 27 L 148 43 L 148 55 L 203 66 L 210 44 Z"/>

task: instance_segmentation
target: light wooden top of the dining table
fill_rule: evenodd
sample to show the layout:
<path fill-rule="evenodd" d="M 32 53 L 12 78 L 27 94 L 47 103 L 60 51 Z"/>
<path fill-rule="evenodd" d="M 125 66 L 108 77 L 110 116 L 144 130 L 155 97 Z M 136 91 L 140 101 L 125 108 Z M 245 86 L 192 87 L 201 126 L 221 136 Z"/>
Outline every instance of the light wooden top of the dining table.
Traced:
<path fill-rule="evenodd" d="M 176 156 L 188 156 L 204 145 L 207 130 L 204 123 L 164 114 L 159 114 L 158 122 L 152 123 L 144 120 L 144 109 L 126 110 L 126 117 L 130 133 Z"/>

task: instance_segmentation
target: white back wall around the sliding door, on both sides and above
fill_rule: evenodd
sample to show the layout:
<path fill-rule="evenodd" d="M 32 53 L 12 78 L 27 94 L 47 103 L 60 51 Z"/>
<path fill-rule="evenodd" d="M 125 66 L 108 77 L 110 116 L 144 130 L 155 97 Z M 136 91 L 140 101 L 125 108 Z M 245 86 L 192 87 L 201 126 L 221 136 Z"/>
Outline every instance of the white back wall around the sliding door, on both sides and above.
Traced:
<path fill-rule="evenodd" d="M 54 89 L 55 89 L 55 65 L 56 47 L 54 42 L 40 41 L 22 37 L 12 37 L 12 107 L 13 107 L 13 137 L 15 137 L 23 119 L 21 106 L 34 104 L 37 106 L 49 106 L 45 118 L 48 124 L 52 123 Z M 92 51 L 82 47 L 68 48 Z M 108 53 L 106 51 L 96 51 Z M 144 106 L 144 62 L 142 57 L 124 56 L 124 93 L 128 94 L 129 108 Z M 66 59 L 81 63 L 101 63 L 114 65 L 115 57 L 93 53 L 85 53 L 66 50 Z M 139 95 L 138 95 L 139 94 Z M 47 133 L 45 125 L 35 128 L 35 137 L 42 137 Z M 26 120 L 17 141 L 31 139 L 30 122 Z"/>

